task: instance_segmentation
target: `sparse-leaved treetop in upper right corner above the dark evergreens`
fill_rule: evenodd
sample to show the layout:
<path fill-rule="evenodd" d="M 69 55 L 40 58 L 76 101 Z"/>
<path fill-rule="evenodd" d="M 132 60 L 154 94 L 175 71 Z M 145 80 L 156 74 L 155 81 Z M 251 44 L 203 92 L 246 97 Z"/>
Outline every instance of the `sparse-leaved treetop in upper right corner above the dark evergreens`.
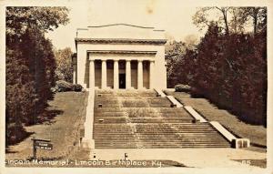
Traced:
<path fill-rule="evenodd" d="M 217 15 L 219 12 L 219 15 Z M 193 23 L 203 29 L 214 22 L 218 27 L 225 29 L 225 33 L 244 32 L 248 23 L 252 23 L 253 33 L 256 35 L 267 28 L 267 7 L 201 7 L 193 15 Z"/>

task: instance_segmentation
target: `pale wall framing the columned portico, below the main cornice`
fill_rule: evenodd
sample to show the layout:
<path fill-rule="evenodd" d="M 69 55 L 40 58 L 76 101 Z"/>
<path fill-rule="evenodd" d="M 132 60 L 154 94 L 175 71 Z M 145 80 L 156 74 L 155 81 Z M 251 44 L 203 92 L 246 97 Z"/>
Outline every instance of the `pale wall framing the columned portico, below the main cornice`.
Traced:
<path fill-rule="evenodd" d="M 88 78 L 89 78 L 89 57 L 87 56 L 87 52 L 90 50 L 133 50 L 133 51 L 157 51 L 157 54 L 152 58 L 155 59 L 155 67 L 154 67 L 154 87 L 158 88 L 167 88 L 167 70 L 165 67 L 165 46 L 161 45 L 142 45 L 142 44 L 88 44 L 88 43 L 77 43 L 77 83 L 82 85 L 83 87 L 87 87 Z M 103 55 L 107 56 L 107 55 Z M 102 55 L 95 55 L 91 58 L 101 59 Z M 126 59 L 128 56 L 121 57 Z M 111 58 L 111 57 L 108 57 Z M 115 58 L 114 56 L 112 58 Z M 120 58 L 120 57 L 119 57 Z M 134 57 L 131 57 L 134 58 Z M 136 59 L 145 59 L 146 56 L 137 56 Z M 151 58 L 151 57 L 148 57 Z M 97 73 L 96 73 L 97 74 Z M 137 87 L 137 82 L 135 82 L 135 77 L 137 79 L 137 70 L 136 72 L 132 69 L 132 87 Z M 144 74 L 147 74 L 144 71 Z M 147 77 L 147 75 L 146 75 Z M 144 77 L 145 87 L 147 86 L 147 79 Z M 110 82 L 109 82 L 110 83 Z"/>

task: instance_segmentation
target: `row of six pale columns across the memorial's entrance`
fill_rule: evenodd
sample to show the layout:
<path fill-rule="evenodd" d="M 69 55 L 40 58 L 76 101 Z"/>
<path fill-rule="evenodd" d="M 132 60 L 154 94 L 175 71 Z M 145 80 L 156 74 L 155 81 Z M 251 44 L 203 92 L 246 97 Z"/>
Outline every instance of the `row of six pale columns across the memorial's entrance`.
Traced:
<path fill-rule="evenodd" d="M 153 88 L 154 78 L 154 61 L 150 61 L 149 68 L 149 87 Z M 119 88 L 119 72 L 118 60 L 114 60 L 114 89 Z M 101 64 L 101 88 L 107 87 L 107 67 L 106 60 L 102 60 Z M 89 61 L 89 87 L 95 87 L 95 60 Z M 131 61 L 126 60 L 126 88 L 131 88 Z M 138 60 L 137 63 L 137 89 L 143 88 L 143 61 Z"/>

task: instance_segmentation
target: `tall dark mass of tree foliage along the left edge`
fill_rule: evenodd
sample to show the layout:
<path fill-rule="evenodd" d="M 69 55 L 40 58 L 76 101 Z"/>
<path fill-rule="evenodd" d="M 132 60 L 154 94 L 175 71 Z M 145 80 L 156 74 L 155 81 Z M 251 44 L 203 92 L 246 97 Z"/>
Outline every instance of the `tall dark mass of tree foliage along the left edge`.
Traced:
<path fill-rule="evenodd" d="M 55 86 L 56 61 L 45 32 L 68 22 L 65 7 L 6 7 L 6 143 L 22 138 Z"/>

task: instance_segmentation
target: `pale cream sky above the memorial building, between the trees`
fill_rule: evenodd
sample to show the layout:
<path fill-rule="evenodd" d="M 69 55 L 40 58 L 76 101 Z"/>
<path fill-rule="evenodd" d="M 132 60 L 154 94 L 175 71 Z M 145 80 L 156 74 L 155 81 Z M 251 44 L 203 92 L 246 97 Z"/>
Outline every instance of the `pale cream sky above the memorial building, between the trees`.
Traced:
<path fill-rule="evenodd" d="M 172 2 L 171 2 L 172 1 Z M 76 28 L 110 24 L 154 26 L 166 31 L 167 39 L 184 40 L 186 36 L 202 36 L 192 23 L 197 11 L 194 5 L 177 0 L 82 0 L 69 4 L 70 23 L 59 26 L 46 36 L 58 49 L 75 50 Z"/>

